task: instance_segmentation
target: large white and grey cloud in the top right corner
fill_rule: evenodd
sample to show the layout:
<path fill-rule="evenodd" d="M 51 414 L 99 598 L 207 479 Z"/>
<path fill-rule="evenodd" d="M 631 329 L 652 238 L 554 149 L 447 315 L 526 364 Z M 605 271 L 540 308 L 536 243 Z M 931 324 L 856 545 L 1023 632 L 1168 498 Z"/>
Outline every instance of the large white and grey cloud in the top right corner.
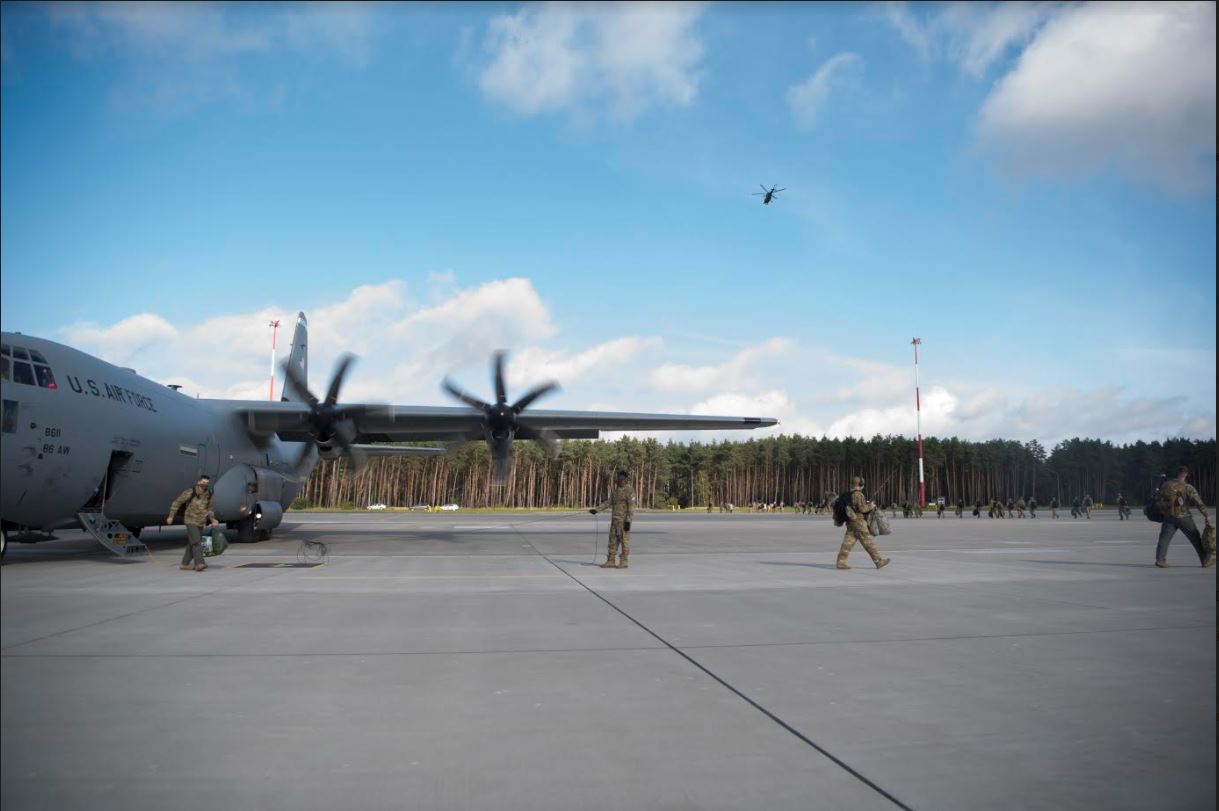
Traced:
<path fill-rule="evenodd" d="M 1214 182 L 1215 5 L 1086 5 L 1058 13 L 995 87 L 981 149 L 1011 172 L 1114 168 L 1173 190 Z"/>

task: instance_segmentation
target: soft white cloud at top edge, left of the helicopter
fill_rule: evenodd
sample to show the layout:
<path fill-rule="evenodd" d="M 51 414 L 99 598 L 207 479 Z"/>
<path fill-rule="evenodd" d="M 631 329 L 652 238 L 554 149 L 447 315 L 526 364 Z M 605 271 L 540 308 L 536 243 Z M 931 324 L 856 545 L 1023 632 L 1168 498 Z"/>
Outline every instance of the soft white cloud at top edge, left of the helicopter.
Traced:
<path fill-rule="evenodd" d="M 517 112 L 608 106 L 619 120 L 688 106 L 698 91 L 702 43 L 691 4 L 542 4 L 488 23 L 486 96 Z"/>

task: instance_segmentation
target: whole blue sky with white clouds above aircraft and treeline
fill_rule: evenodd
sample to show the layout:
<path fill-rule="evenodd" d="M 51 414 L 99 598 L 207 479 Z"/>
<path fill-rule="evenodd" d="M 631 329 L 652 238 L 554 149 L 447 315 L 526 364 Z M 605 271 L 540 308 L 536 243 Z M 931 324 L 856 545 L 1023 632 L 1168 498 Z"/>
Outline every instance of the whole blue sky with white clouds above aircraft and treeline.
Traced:
<path fill-rule="evenodd" d="M 6 4 L 0 317 L 258 396 L 305 310 L 352 396 L 510 346 L 553 407 L 833 434 L 913 433 L 918 334 L 924 433 L 1213 437 L 1214 22 Z"/>

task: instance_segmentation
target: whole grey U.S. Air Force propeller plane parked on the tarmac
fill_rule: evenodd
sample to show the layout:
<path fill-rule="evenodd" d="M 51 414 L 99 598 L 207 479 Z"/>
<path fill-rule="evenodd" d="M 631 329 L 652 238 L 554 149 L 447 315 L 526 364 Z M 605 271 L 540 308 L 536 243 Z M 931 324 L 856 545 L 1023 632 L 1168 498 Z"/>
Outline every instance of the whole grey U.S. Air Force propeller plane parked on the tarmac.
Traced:
<path fill-rule="evenodd" d="M 340 359 L 325 396 L 307 385 L 308 326 L 296 320 L 279 402 L 189 398 L 79 350 L 0 333 L 0 551 L 10 537 L 46 539 L 82 528 L 123 557 L 146 554 L 144 527 L 165 523 L 173 499 L 212 477 L 216 517 L 238 540 L 262 540 L 280 523 L 319 457 L 358 470 L 373 455 L 441 454 L 440 448 L 372 443 L 485 439 L 502 481 L 514 439 L 553 451 L 558 439 L 602 431 L 761 428 L 766 417 L 702 417 L 528 409 L 542 384 L 508 404 L 503 354 L 495 356 L 495 402 L 444 388 L 464 407 L 341 404 L 354 357 Z M 528 410 L 528 411 L 527 411 Z"/>

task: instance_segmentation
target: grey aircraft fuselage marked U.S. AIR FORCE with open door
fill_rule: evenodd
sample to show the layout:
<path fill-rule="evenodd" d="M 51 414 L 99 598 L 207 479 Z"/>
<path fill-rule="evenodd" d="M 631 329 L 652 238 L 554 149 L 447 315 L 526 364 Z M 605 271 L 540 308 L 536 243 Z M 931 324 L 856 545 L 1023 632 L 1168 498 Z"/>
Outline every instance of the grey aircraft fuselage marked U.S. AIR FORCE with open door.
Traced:
<path fill-rule="evenodd" d="M 221 521 L 246 520 L 258 502 L 273 501 L 282 515 L 316 460 L 311 452 L 294 476 L 289 460 L 300 445 L 256 441 L 235 401 L 190 398 L 50 340 L 2 333 L 2 343 L 10 352 L 0 382 L 6 528 L 76 527 L 89 510 L 132 528 L 161 524 L 173 499 L 204 473 L 212 477 Z"/>

